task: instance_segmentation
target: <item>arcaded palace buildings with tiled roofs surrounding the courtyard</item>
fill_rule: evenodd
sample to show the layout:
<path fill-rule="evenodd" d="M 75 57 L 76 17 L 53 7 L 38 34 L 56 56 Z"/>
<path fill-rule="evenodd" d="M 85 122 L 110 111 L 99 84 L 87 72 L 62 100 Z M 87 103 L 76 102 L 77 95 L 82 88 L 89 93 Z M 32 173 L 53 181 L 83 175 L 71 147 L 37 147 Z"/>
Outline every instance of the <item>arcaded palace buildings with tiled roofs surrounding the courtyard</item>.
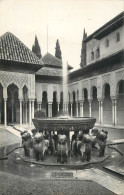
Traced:
<path fill-rule="evenodd" d="M 124 126 L 124 13 L 83 40 L 84 64 L 68 65 L 66 111 L 95 117 L 97 124 Z M 0 123 L 29 123 L 42 110 L 54 117 L 63 108 L 62 61 L 40 60 L 11 33 L 0 38 Z"/>

